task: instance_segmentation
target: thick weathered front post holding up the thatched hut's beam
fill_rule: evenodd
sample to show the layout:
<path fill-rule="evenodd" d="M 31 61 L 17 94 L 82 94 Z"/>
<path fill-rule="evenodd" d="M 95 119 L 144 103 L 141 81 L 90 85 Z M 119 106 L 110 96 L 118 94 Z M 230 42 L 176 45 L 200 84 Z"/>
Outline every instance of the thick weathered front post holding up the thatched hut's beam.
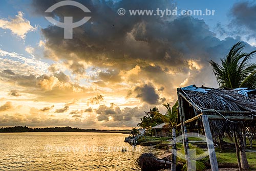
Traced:
<path fill-rule="evenodd" d="M 214 149 L 214 143 L 213 143 L 211 132 L 210 132 L 208 116 L 202 115 L 202 121 L 203 121 L 205 136 L 206 136 L 211 170 L 218 171 L 219 170 L 218 162 L 217 162 L 216 153 L 215 153 L 215 149 Z"/>

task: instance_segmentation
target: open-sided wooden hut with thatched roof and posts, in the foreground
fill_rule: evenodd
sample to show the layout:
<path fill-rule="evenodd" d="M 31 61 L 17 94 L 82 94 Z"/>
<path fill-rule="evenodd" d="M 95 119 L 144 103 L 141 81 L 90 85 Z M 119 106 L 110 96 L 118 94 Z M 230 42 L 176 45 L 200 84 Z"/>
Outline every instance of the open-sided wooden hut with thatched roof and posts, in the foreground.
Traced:
<path fill-rule="evenodd" d="M 256 90 L 246 88 L 223 90 L 195 85 L 177 89 L 180 118 L 177 126 L 181 126 L 187 170 L 191 170 L 187 133 L 198 129 L 196 125 L 201 125 L 205 133 L 213 171 L 218 170 L 218 163 L 212 142 L 224 133 L 234 135 L 235 140 L 244 130 L 255 134 L 255 93 Z M 239 145 L 242 158 L 245 148 L 241 143 Z"/>

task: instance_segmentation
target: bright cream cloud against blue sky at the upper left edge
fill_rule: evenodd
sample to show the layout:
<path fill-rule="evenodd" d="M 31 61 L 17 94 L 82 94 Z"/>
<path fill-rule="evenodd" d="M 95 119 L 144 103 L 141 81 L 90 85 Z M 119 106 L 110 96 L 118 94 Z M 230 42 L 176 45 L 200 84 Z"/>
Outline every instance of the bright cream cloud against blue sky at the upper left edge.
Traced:
<path fill-rule="evenodd" d="M 13 34 L 24 39 L 28 32 L 34 31 L 36 28 L 31 26 L 29 20 L 25 19 L 23 15 L 24 13 L 19 11 L 18 15 L 10 20 L 0 19 L 0 28 L 9 29 Z"/>

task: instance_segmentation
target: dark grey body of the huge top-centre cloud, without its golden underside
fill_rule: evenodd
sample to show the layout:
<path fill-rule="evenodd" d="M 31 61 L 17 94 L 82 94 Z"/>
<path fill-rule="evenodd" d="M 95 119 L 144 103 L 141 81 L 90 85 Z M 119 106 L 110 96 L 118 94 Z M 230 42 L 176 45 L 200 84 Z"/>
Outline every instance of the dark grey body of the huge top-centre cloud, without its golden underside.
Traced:
<path fill-rule="evenodd" d="M 134 67 L 137 63 L 147 65 L 147 62 L 153 61 L 179 69 L 179 66 L 186 64 L 185 59 L 191 57 L 190 54 L 202 55 L 202 52 L 207 52 L 209 47 L 215 46 L 219 41 L 203 20 L 192 17 L 175 19 L 173 16 L 119 16 L 116 12 L 121 7 L 174 9 L 172 1 L 159 3 L 131 0 L 115 4 L 111 1 L 78 2 L 92 11 L 92 18 L 90 22 L 73 30 L 73 39 L 63 39 L 63 29 L 56 26 L 42 30 L 48 40 L 46 45 L 66 59 L 72 60 L 68 54 L 74 53 L 78 60 L 93 62 L 95 66 L 125 69 Z M 43 14 L 54 3 L 34 1 L 33 7 Z M 58 8 L 54 15 L 60 18 L 71 13 L 77 18 L 84 16 L 83 13 L 76 12 L 79 10 L 71 10 L 72 8 Z M 200 51 L 201 54 L 198 54 Z"/>

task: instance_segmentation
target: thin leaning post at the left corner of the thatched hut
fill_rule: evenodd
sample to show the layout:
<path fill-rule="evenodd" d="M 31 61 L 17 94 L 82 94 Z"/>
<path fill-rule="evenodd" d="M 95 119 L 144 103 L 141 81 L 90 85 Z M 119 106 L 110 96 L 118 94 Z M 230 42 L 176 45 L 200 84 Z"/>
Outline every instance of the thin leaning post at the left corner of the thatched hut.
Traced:
<path fill-rule="evenodd" d="M 185 152 L 185 159 L 187 164 L 187 170 L 191 170 L 191 164 L 190 164 L 190 158 L 189 158 L 189 148 L 188 148 L 188 139 L 187 139 L 187 129 L 183 121 L 185 121 L 184 116 L 184 105 L 183 105 L 183 99 L 180 96 L 179 92 L 178 94 L 178 102 L 179 102 L 179 114 L 180 114 L 180 123 L 181 123 L 181 133 L 182 133 L 182 139 L 183 139 L 183 146 L 184 146 L 184 152 Z"/>

